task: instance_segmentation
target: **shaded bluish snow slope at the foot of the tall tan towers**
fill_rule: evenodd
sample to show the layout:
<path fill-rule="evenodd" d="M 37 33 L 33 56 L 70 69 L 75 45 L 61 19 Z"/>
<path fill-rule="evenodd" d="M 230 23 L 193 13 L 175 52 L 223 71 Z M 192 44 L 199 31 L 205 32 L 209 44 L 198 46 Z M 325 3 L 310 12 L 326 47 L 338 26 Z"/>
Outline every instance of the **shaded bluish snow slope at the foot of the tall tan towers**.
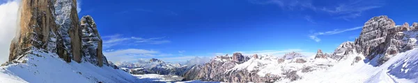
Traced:
<path fill-rule="evenodd" d="M 31 50 L 22 62 L 0 67 L 0 82 L 135 82 L 134 77 L 109 66 L 98 67 L 88 62 L 64 62 L 54 53 Z"/>

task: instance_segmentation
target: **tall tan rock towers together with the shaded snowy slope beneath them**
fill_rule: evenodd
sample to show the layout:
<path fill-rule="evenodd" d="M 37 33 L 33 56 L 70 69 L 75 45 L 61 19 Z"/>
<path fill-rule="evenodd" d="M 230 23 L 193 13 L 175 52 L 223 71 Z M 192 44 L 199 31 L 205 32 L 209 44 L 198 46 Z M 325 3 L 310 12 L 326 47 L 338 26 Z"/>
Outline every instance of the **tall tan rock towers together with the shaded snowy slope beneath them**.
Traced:
<path fill-rule="evenodd" d="M 91 16 L 79 21 L 76 0 L 22 0 L 20 32 L 0 66 L 0 83 L 143 83 L 164 77 L 131 75 L 102 54 Z M 169 77 L 176 78 L 176 77 Z"/>

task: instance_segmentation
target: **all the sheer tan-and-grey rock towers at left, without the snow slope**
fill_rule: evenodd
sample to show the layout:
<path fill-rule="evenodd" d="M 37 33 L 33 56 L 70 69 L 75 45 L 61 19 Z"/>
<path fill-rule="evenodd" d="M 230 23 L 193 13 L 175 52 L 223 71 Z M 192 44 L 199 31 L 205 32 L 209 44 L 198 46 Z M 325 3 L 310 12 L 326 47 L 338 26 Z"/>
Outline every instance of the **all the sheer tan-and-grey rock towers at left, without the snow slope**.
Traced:
<path fill-rule="evenodd" d="M 56 53 L 65 62 L 82 62 L 84 58 L 98 66 L 107 64 L 93 19 L 83 17 L 81 27 L 76 3 L 76 0 L 22 0 L 20 33 L 10 45 L 8 63 L 20 61 L 30 50 L 42 49 Z"/>

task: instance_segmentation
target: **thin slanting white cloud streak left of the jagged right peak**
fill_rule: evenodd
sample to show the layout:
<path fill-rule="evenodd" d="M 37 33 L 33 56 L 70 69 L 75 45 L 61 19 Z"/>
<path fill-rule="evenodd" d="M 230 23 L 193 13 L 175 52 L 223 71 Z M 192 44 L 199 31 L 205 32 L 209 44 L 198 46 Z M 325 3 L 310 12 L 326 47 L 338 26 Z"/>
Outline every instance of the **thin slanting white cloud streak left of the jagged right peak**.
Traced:
<path fill-rule="evenodd" d="M 327 31 L 325 33 L 320 32 L 320 33 L 314 33 L 312 35 L 309 35 L 309 38 L 314 39 L 315 42 L 320 42 L 321 39 L 318 38 L 319 35 L 334 35 L 334 34 L 339 34 L 339 33 L 344 33 L 346 31 L 351 31 L 351 30 L 358 30 L 363 28 L 362 26 L 359 27 L 355 27 L 355 28 L 347 28 L 345 30 L 332 30 L 332 31 Z"/>

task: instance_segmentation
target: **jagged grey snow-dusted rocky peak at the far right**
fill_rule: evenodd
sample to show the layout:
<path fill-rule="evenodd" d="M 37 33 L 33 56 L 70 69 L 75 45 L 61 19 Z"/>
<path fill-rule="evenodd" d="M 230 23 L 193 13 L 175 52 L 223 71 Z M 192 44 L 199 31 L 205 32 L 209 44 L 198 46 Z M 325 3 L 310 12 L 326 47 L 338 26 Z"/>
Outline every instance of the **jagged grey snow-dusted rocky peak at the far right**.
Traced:
<path fill-rule="evenodd" d="M 362 33 L 355 40 L 357 53 L 368 59 L 378 57 L 378 63 L 386 62 L 392 55 L 410 50 L 417 46 L 417 24 L 395 26 L 387 16 L 373 17 L 364 24 Z"/>

